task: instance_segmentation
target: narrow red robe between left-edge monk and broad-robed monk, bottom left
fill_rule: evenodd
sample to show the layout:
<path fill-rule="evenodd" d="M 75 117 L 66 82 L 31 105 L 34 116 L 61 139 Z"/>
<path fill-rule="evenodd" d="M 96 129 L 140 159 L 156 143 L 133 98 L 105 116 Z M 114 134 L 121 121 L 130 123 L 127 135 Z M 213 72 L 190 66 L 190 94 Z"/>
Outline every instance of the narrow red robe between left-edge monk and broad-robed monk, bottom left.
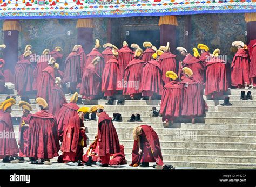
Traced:
<path fill-rule="evenodd" d="M 31 113 L 28 116 L 22 115 L 21 123 L 19 123 L 19 157 L 26 157 L 27 147 L 28 147 L 28 126 L 22 126 L 23 121 L 25 124 L 29 124 Z"/>

